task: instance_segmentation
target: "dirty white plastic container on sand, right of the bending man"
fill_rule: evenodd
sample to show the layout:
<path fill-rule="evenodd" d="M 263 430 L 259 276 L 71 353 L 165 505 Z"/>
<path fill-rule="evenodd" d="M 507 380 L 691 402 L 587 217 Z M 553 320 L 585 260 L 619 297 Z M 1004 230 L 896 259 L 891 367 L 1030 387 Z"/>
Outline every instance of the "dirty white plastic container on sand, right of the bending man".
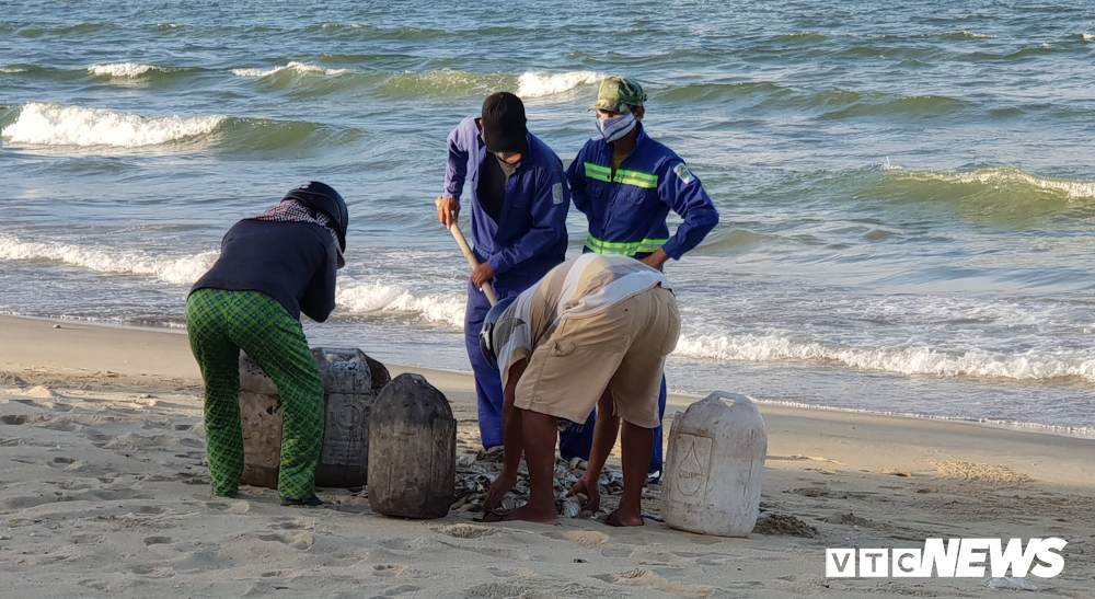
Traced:
<path fill-rule="evenodd" d="M 760 515 L 766 453 L 764 418 L 745 395 L 716 391 L 678 412 L 669 430 L 661 517 L 690 532 L 748 537 Z"/>

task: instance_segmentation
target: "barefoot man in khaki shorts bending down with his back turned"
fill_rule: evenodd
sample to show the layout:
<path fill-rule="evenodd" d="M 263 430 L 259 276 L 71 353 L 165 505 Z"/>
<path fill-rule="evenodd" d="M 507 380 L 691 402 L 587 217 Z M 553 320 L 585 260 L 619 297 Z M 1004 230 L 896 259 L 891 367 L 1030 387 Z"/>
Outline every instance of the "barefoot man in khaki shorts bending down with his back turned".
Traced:
<path fill-rule="evenodd" d="M 613 526 L 643 526 L 642 493 L 650 465 L 666 356 L 677 346 L 680 315 L 669 279 L 626 256 L 584 254 L 553 268 L 516 300 L 487 314 L 483 355 L 502 373 L 506 468 L 492 485 L 486 521 L 557 525 L 555 442 L 558 431 L 597 421 L 586 474 L 572 494 L 597 510 L 597 481 L 623 421 L 624 488 Z M 529 503 L 499 511 L 517 483 L 521 454 L 529 466 Z"/>

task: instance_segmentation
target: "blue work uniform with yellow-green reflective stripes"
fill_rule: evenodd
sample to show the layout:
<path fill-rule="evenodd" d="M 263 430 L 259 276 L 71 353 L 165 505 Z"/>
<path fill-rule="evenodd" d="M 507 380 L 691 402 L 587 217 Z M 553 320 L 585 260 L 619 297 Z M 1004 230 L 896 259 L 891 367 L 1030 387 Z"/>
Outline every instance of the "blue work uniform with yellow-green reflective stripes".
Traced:
<path fill-rule="evenodd" d="M 586 142 L 566 171 L 574 205 L 589 221 L 586 252 L 621 254 L 643 260 L 659 247 L 673 260 L 694 249 L 718 224 L 718 211 L 700 180 L 672 150 L 650 139 L 639 127 L 635 149 L 612 171 L 612 148 L 602 137 Z M 670 237 L 669 210 L 684 222 Z M 661 378 L 658 416 L 666 412 L 666 379 Z M 583 427 L 591 430 L 596 413 Z M 591 435 L 591 433 L 590 433 Z M 655 431 L 650 473 L 662 468 L 661 427 Z M 588 456 L 588 439 L 574 439 L 564 457 Z"/>

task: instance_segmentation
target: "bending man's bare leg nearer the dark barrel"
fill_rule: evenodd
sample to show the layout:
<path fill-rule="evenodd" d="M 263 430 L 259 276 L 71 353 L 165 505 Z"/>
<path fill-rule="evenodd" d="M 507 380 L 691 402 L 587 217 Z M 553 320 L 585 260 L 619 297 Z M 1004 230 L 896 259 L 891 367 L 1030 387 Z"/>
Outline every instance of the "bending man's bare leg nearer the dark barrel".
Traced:
<path fill-rule="evenodd" d="M 521 414 L 521 428 L 525 434 L 525 461 L 529 465 L 529 503 L 507 511 L 502 519 L 558 526 L 554 493 L 555 441 L 558 439 L 555 416 L 519 407 L 514 410 Z M 650 439 L 653 441 L 653 437 Z M 649 448 L 646 453 L 649 456 Z"/>

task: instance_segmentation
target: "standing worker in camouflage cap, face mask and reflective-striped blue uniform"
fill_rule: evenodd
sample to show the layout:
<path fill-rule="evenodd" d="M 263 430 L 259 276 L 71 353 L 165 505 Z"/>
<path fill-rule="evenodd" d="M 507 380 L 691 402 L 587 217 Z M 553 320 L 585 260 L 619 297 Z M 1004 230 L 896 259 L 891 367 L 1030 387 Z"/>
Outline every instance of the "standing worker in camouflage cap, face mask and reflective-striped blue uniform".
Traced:
<path fill-rule="evenodd" d="M 566 175 L 574 205 L 589 221 L 585 251 L 632 256 L 661 270 L 669 258 L 680 260 L 707 237 L 718 223 L 718 211 L 684 161 L 646 135 L 645 101 L 638 81 L 606 77 L 590 107 L 597 111 L 601 135 L 586 142 Z M 673 235 L 666 223 L 669 210 L 684 219 Z M 662 378 L 659 422 L 665 411 Z M 596 426 L 596 413 L 590 416 L 586 429 Z M 660 476 L 661 427 L 654 434 L 649 472 Z M 583 452 L 588 449 L 569 449 L 573 454 Z"/>

